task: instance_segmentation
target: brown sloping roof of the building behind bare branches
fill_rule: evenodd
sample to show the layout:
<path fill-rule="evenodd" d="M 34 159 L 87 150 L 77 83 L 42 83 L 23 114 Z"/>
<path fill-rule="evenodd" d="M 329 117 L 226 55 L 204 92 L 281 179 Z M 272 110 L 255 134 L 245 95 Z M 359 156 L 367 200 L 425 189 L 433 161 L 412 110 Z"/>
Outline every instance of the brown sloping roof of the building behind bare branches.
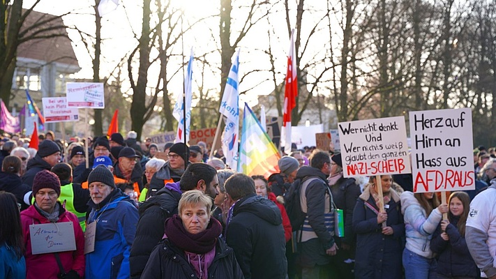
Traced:
<path fill-rule="evenodd" d="M 24 12 L 26 12 L 26 10 L 24 10 Z M 41 22 L 45 22 L 50 19 L 53 20 L 45 24 L 40 24 Z M 39 13 L 33 10 L 24 21 L 24 24 L 22 24 L 22 29 L 25 29 L 25 27 L 32 27 L 35 24 L 40 24 L 40 27 L 47 29 L 48 26 L 63 26 L 63 20 L 61 17 L 46 13 Z M 36 28 L 29 31 L 27 36 L 32 35 L 34 31 L 36 31 Z M 47 36 L 50 34 L 59 34 L 60 36 L 27 40 L 17 47 L 17 56 L 27 59 L 46 61 L 48 63 L 57 62 L 79 67 L 79 63 L 77 63 L 77 58 L 66 29 L 59 28 L 52 31 L 43 31 L 36 36 Z"/>

